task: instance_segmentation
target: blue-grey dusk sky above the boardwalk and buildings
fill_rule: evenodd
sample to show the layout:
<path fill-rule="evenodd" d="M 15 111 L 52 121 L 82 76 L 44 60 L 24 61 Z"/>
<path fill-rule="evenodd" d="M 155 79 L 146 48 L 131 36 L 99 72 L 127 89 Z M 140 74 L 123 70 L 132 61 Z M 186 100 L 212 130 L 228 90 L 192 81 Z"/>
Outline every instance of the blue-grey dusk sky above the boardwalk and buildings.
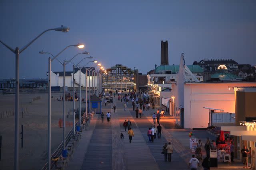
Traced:
<path fill-rule="evenodd" d="M 69 48 L 58 59 L 88 51 L 105 68 L 123 64 L 146 74 L 160 65 L 161 40 L 168 40 L 170 65 L 184 53 L 186 64 L 233 59 L 254 66 L 255 9 L 255 0 L 0 0 L 0 40 L 22 48 L 46 29 L 70 27 L 46 32 L 20 54 L 20 78 L 45 78 L 49 55 L 38 52 L 56 55 L 76 43 L 86 48 Z M 14 78 L 14 53 L 0 44 L 0 57 L 0 78 Z M 62 69 L 53 61 L 53 71 Z"/>

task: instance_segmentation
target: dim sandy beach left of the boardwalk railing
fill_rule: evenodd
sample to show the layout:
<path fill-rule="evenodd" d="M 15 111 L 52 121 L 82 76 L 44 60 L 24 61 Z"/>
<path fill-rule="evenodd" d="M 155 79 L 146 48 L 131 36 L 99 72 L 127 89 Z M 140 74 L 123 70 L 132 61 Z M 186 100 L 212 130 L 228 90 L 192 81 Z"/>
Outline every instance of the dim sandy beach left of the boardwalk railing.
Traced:
<path fill-rule="evenodd" d="M 72 92 L 67 92 L 72 93 Z M 82 92 L 82 96 L 85 91 Z M 41 96 L 31 103 L 32 98 Z M 62 119 L 63 101 L 57 101 L 62 93 L 52 93 L 52 152 L 62 142 L 62 128 L 58 127 Z M 0 112 L 14 111 L 14 94 L 0 94 Z M 79 107 L 79 102 L 75 102 Z M 67 118 L 68 110 L 72 109 L 72 102 L 66 101 L 66 121 L 73 122 L 73 115 Z M 85 107 L 82 104 L 81 107 Z M 25 111 L 22 117 L 22 110 Z M 48 94 L 20 94 L 20 131 L 24 127 L 24 144 L 21 148 L 19 164 L 21 170 L 41 169 L 47 158 L 47 126 L 48 126 Z M 76 120 L 77 121 L 77 120 Z M 66 125 L 66 135 L 72 127 Z M 2 135 L 2 156 L 0 170 L 13 169 L 14 165 L 14 116 L 0 118 L 0 134 Z"/>

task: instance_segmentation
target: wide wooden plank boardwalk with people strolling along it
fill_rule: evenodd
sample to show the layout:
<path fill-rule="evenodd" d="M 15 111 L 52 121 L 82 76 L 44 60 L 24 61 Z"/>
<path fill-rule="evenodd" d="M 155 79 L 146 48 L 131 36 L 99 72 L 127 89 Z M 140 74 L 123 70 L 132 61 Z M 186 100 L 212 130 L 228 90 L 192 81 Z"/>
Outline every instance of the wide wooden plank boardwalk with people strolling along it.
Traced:
<path fill-rule="evenodd" d="M 154 143 L 148 143 L 147 129 L 152 126 L 150 114 L 152 111 L 144 111 L 142 118 L 136 118 L 132 111 L 131 102 L 128 109 L 124 111 L 123 102 L 115 101 L 116 113 L 113 113 L 112 104 L 102 110 L 106 115 L 110 111 L 112 117 L 110 122 L 104 118 L 101 122 L 100 115 L 95 115 L 90 124 L 90 128 L 85 131 L 79 148 L 75 149 L 67 169 L 81 170 L 167 170 L 167 169 L 187 169 L 187 164 L 174 151 L 172 162 L 164 162 L 164 155 L 161 154 L 162 147 L 167 140 L 164 136 L 155 139 Z M 134 137 L 129 143 L 127 131 L 122 127 L 124 119 L 132 122 Z M 163 124 L 167 128 L 174 128 L 175 124 Z M 124 134 L 124 139 L 120 139 L 120 133 Z"/>

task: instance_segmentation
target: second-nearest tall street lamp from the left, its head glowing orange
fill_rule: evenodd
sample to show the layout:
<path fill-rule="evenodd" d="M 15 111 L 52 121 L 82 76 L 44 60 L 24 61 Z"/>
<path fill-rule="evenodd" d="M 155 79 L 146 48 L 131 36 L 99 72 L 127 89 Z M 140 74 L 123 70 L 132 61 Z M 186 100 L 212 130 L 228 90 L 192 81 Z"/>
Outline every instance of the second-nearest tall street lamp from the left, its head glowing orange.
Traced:
<path fill-rule="evenodd" d="M 52 53 L 49 52 L 44 52 L 44 51 L 39 51 L 40 54 L 50 54 L 52 55 L 53 58 L 48 58 L 48 169 L 50 170 L 50 165 L 51 165 L 51 106 L 52 106 L 52 101 L 51 101 L 51 70 L 52 70 L 52 61 L 56 59 L 58 62 L 60 62 L 57 57 L 68 47 L 78 47 L 81 44 L 76 44 L 76 45 L 69 45 L 65 47 L 62 51 L 60 51 L 56 56 L 52 55 Z M 60 62 L 60 64 L 62 64 Z M 63 65 L 63 64 L 62 64 Z"/>

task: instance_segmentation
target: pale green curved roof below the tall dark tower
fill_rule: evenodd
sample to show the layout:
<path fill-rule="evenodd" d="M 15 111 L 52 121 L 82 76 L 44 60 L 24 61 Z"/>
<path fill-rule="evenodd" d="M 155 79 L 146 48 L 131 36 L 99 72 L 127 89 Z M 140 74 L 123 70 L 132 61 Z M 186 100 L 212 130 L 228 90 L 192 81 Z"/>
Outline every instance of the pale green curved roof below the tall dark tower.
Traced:
<path fill-rule="evenodd" d="M 187 65 L 192 73 L 202 73 L 203 69 L 198 65 Z M 172 74 L 176 74 L 180 69 L 179 65 L 165 65 L 158 66 L 155 69 L 155 74 L 161 74 L 162 71 L 171 71 Z"/>

